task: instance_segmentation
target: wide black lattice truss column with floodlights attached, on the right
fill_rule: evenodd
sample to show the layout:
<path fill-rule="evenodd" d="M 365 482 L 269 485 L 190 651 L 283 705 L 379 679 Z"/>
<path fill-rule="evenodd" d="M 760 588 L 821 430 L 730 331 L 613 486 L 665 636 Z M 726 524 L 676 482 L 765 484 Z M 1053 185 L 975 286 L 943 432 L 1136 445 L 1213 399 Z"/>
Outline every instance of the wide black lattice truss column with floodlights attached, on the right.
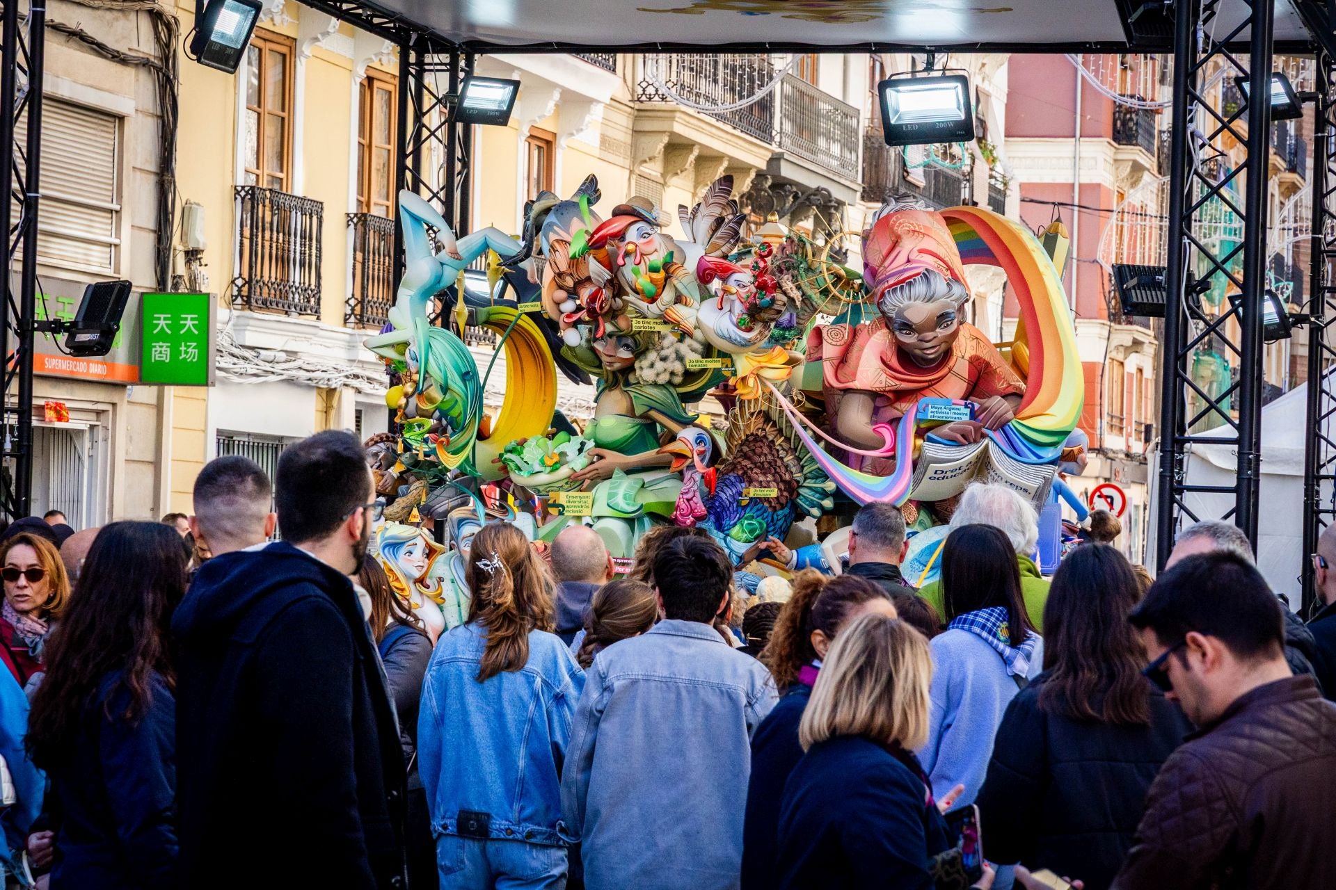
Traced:
<path fill-rule="evenodd" d="M 1269 0 L 1252 0 L 1249 15 L 1228 33 L 1216 33 L 1218 0 L 1185 0 L 1177 5 L 1174 28 L 1173 129 L 1170 133 L 1170 196 L 1168 244 L 1168 299 L 1165 338 L 1161 343 L 1160 486 L 1157 510 L 1158 564 L 1164 567 L 1182 518 L 1208 518 L 1189 496 L 1205 503 L 1228 496 L 1218 510 L 1232 519 L 1256 547 L 1260 491 L 1263 306 L 1267 282 L 1267 180 L 1269 172 L 1271 105 L 1267 87 L 1253 88 L 1260 101 L 1244 103 L 1233 113 L 1217 111 L 1208 85 L 1271 83 L 1272 20 Z M 1240 59 L 1228 47 L 1249 39 L 1249 55 Z M 1222 69 L 1222 71 L 1221 71 Z M 1246 120 L 1244 116 L 1246 115 Z M 1246 129 L 1245 129 L 1246 128 Z M 1245 156 L 1228 169 L 1224 139 L 1245 147 Z M 1214 161 L 1214 163 L 1210 163 Z M 1238 207 L 1237 184 L 1244 201 Z M 1225 239 L 1221 220 L 1236 219 L 1241 239 Z M 1241 260 L 1241 271 L 1234 271 Z M 1217 315 L 1208 315 L 1201 296 L 1212 279 L 1225 278 L 1238 296 Z M 1232 286 L 1232 287 L 1230 287 Z M 1208 391 L 1193 379 L 1190 367 L 1198 350 L 1222 351 L 1236 371 L 1229 386 Z M 1190 399 L 1197 404 L 1189 407 Z M 1228 427 L 1225 435 L 1206 428 Z M 1185 452 L 1193 443 L 1233 446 L 1238 475 L 1230 486 L 1201 486 L 1186 480 Z"/>

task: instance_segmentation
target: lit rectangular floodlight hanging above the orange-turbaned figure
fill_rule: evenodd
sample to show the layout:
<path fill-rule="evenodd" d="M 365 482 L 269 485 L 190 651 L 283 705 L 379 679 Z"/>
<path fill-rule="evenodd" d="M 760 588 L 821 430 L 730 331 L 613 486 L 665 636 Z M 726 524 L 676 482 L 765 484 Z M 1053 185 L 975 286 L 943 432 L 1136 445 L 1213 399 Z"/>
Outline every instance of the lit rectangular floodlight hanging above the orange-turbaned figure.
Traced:
<path fill-rule="evenodd" d="M 934 145 L 974 139 L 965 75 L 892 77 L 876 84 L 887 145 Z"/>

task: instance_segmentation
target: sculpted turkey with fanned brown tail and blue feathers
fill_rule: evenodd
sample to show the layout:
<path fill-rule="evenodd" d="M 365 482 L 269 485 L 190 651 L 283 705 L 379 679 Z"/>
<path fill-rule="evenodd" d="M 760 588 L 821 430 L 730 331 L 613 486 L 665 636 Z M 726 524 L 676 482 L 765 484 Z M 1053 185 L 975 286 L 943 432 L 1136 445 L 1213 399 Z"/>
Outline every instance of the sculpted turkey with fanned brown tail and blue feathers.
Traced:
<path fill-rule="evenodd" d="M 673 522 L 708 531 L 733 563 L 758 540 L 783 540 L 799 514 L 834 508 L 835 483 L 764 408 L 743 406 L 729 415 L 727 448 L 709 467 L 713 440 L 687 427 L 660 451 L 673 455 L 672 468 L 683 474 Z M 767 488 L 775 494 L 752 494 Z"/>

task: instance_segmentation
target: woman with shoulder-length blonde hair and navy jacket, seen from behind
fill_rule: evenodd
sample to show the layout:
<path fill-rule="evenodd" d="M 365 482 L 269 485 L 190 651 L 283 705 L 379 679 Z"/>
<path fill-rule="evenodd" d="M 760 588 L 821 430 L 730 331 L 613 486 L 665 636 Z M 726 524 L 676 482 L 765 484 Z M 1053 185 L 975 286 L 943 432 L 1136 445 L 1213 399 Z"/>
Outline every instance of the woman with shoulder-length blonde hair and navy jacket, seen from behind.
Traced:
<path fill-rule="evenodd" d="M 911 754 L 927 738 L 931 679 L 927 640 L 904 622 L 868 614 L 840 628 L 784 786 L 779 887 L 931 890 L 930 859 L 951 847 Z M 974 886 L 991 887 L 993 873 Z"/>

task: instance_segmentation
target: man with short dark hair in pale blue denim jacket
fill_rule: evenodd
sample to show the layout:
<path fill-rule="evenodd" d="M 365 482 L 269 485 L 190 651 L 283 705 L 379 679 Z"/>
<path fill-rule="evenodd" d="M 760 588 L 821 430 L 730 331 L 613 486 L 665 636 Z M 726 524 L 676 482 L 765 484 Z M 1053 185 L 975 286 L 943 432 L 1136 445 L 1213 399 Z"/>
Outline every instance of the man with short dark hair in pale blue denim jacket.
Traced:
<path fill-rule="evenodd" d="M 775 705 L 760 662 L 711 622 L 732 563 L 680 538 L 655 559 L 664 620 L 599 652 L 570 725 L 561 811 L 589 890 L 732 890 L 751 734 Z"/>

